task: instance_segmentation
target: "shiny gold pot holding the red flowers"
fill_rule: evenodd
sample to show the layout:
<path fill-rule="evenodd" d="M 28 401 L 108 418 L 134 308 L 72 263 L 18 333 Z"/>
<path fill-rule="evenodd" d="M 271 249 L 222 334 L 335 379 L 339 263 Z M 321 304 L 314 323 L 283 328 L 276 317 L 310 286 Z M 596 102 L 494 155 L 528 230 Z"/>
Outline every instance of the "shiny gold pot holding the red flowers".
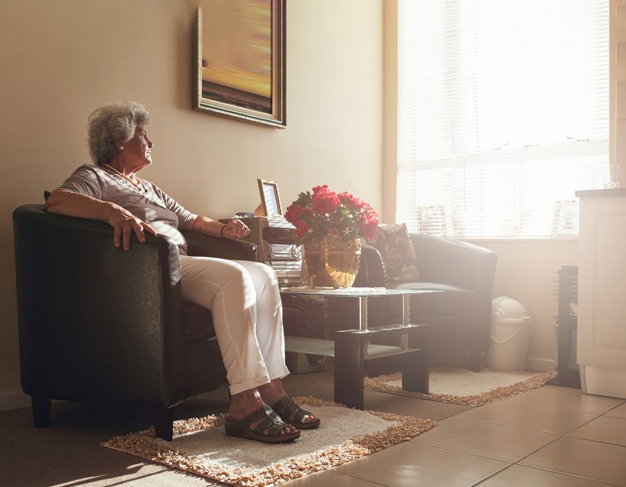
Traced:
<path fill-rule="evenodd" d="M 309 242 L 303 245 L 303 253 L 313 287 L 350 287 L 359 271 L 361 240 Z"/>

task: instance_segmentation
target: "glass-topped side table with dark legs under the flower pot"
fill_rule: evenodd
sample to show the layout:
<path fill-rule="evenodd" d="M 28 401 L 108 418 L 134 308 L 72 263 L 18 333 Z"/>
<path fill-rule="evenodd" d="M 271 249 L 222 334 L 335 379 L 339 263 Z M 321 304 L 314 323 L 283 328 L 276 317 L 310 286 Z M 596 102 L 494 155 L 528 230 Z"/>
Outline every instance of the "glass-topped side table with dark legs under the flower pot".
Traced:
<path fill-rule="evenodd" d="M 306 337 L 285 337 L 285 349 L 289 352 L 312 353 L 335 358 L 335 402 L 351 408 L 363 409 L 364 365 L 373 358 L 403 356 L 402 388 L 413 392 L 428 393 L 428 346 L 424 324 L 410 324 L 411 294 L 439 292 L 422 289 L 386 289 L 384 287 L 346 287 L 330 289 L 323 287 L 285 287 L 281 294 L 300 296 L 324 296 L 326 298 L 351 298 L 359 301 L 358 322 L 354 328 L 335 332 L 335 340 Z M 398 296 L 402 301 L 402 323 L 393 326 L 369 327 L 367 303 L 369 298 Z M 399 336 L 400 345 L 372 344 L 373 338 Z M 409 346 L 409 337 L 413 347 Z M 416 348 L 415 344 L 419 344 Z"/>

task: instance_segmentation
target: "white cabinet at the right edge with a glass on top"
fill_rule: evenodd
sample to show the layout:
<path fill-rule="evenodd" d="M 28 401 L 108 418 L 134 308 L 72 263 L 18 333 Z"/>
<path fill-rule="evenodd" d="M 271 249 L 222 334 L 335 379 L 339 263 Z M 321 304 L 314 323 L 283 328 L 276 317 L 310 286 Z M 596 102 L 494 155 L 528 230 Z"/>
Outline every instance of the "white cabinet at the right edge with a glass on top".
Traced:
<path fill-rule="evenodd" d="M 581 390 L 626 398 L 626 189 L 576 195 Z"/>

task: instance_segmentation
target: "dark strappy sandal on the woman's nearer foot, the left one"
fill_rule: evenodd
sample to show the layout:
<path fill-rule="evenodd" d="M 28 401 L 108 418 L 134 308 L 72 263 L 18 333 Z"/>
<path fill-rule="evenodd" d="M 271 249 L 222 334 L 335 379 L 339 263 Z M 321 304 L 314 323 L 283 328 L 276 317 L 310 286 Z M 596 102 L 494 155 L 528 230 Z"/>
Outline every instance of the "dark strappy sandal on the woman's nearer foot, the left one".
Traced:
<path fill-rule="evenodd" d="M 254 429 L 250 428 L 250 424 L 259 421 Z M 300 438 L 300 431 L 294 433 L 280 434 L 282 429 L 287 428 L 289 424 L 285 423 L 278 417 L 276 413 L 267 404 L 262 408 L 252 411 L 243 420 L 234 420 L 232 417 L 226 417 L 224 428 L 228 436 L 236 436 L 237 438 L 248 438 L 264 443 L 287 443 Z M 267 433 L 265 433 L 267 431 Z"/>

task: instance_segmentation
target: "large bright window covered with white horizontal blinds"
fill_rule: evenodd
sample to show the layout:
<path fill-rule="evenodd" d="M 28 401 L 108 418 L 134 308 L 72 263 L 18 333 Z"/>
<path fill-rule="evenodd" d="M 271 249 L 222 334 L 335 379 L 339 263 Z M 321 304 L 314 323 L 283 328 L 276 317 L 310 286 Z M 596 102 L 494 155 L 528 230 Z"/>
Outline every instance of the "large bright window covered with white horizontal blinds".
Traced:
<path fill-rule="evenodd" d="M 459 238 L 554 236 L 559 205 L 606 179 L 609 1 L 399 0 L 398 11 L 396 221 Z"/>

